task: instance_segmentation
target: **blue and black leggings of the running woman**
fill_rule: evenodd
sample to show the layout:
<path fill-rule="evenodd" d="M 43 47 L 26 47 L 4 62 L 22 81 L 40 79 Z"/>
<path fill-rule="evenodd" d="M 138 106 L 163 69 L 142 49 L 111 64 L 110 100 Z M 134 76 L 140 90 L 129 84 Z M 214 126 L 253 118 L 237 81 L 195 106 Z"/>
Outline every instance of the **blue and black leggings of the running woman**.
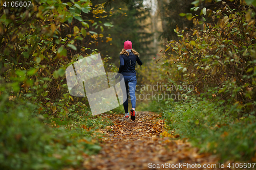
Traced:
<path fill-rule="evenodd" d="M 127 99 L 123 103 L 123 108 L 125 113 L 128 113 L 128 98 L 130 96 L 132 108 L 136 107 L 136 96 L 135 96 L 135 88 L 137 84 L 136 76 L 123 76 L 126 88 Z M 123 92 L 124 93 L 124 92 Z"/>

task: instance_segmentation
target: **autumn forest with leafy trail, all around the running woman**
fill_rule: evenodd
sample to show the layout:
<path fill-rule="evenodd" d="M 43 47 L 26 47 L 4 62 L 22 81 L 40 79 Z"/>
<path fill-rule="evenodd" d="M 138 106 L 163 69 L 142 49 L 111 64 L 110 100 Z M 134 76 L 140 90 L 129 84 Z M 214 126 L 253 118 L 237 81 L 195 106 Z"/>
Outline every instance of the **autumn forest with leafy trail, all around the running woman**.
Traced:
<path fill-rule="evenodd" d="M 255 6 L 256 0 L 1 1 L 0 168 L 252 167 Z M 136 66 L 135 122 L 123 120 L 123 106 L 93 115 L 87 96 L 71 95 L 66 79 L 68 66 L 98 53 L 106 72 L 118 72 L 126 40 L 143 62 Z"/>

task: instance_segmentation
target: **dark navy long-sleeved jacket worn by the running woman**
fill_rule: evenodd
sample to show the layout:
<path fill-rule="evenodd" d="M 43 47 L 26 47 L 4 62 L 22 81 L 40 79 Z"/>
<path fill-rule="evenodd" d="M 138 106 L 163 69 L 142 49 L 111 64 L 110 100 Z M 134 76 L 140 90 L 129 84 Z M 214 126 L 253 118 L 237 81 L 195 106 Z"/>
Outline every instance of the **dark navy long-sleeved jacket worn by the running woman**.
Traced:
<path fill-rule="evenodd" d="M 140 61 L 139 57 L 135 56 L 132 52 L 130 52 L 129 56 L 122 54 L 119 56 L 119 58 L 120 67 L 118 73 L 121 73 L 123 76 L 136 76 L 136 61 L 139 65 L 142 65 L 142 62 Z"/>

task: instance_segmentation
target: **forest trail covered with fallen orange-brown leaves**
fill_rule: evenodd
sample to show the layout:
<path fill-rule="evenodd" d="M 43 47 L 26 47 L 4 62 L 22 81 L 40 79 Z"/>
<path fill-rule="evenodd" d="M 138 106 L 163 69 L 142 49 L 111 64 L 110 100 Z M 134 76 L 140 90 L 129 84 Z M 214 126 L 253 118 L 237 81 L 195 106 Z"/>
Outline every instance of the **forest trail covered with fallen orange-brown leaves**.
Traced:
<path fill-rule="evenodd" d="M 161 137 L 164 122 L 158 114 L 137 112 L 135 122 L 123 115 L 108 116 L 114 125 L 103 129 L 102 150 L 86 158 L 85 169 L 148 169 L 149 163 L 217 164 L 216 157 L 198 154 L 188 142 Z"/>

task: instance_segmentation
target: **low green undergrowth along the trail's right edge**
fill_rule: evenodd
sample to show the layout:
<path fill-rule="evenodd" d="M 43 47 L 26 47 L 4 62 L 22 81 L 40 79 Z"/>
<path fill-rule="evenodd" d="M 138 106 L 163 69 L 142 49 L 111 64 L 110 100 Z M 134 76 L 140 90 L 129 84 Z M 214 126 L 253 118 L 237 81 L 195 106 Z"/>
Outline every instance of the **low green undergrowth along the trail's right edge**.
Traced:
<path fill-rule="evenodd" d="M 218 154 L 222 161 L 248 161 L 256 153 L 255 117 L 234 118 L 231 115 L 239 110 L 223 103 L 188 98 L 186 102 L 171 102 L 163 117 L 170 130 L 189 138 L 201 152 Z"/>

